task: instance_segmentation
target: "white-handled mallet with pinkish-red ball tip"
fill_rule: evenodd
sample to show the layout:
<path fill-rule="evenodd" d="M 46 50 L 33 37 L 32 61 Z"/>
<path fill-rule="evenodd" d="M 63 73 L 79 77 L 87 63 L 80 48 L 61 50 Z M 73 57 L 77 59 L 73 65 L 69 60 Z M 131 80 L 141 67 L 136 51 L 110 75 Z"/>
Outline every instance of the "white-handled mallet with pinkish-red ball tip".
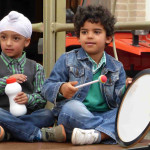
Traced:
<path fill-rule="evenodd" d="M 106 81 L 107 81 L 107 77 L 105 75 L 101 75 L 101 76 L 99 76 L 99 78 L 97 80 L 78 85 L 78 86 L 76 86 L 76 88 L 81 88 L 81 87 L 91 85 L 91 84 L 97 83 L 97 82 L 106 83 Z"/>

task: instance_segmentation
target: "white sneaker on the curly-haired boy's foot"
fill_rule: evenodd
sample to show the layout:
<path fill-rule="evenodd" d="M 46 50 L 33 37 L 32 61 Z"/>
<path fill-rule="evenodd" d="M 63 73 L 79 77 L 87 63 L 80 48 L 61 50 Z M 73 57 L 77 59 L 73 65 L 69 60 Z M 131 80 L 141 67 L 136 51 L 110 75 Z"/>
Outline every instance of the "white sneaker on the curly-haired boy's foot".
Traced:
<path fill-rule="evenodd" d="M 86 145 L 97 143 L 100 133 L 94 129 L 83 130 L 74 128 L 72 132 L 71 142 L 74 145 Z"/>

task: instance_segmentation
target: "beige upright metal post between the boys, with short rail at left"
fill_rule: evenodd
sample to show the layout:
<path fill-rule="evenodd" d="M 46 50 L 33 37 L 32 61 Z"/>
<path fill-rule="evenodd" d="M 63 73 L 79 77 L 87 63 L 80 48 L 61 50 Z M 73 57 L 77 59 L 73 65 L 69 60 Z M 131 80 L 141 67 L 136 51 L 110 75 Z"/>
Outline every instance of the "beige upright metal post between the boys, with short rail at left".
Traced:
<path fill-rule="evenodd" d="M 55 28 L 57 22 L 66 22 L 66 1 L 44 0 L 43 22 L 32 26 L 33 31 L 43 32 L 43 66 L 48 77 L 56 60 L 65 52 L 65 32 L 56 32 Z"/>

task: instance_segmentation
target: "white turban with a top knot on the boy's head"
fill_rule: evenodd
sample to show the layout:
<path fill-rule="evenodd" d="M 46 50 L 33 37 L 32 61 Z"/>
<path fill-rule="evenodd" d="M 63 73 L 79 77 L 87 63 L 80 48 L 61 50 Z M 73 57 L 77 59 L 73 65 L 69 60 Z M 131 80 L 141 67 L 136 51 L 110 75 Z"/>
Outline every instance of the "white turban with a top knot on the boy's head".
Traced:
<path fill-rule="evenodd" d="M 0 32 L 14 31 L 26 38 L 32 35 L 32 24 L 30 20 L 17 11 L 11 11 L 0 21 Z"/>

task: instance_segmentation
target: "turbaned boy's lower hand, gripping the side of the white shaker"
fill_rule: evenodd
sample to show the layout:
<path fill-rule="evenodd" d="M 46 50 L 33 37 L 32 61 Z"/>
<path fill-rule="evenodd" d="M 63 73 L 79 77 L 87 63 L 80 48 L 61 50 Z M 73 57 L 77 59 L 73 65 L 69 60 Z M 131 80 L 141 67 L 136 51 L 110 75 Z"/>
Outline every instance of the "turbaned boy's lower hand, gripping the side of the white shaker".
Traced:
<path fill-rule="evenodd" d="M 27 104 L 28 102 L 27 94 L 24 92 L 19 92 L 17 96 L 14 98 L 14 101 L 18 104 Z"/>

